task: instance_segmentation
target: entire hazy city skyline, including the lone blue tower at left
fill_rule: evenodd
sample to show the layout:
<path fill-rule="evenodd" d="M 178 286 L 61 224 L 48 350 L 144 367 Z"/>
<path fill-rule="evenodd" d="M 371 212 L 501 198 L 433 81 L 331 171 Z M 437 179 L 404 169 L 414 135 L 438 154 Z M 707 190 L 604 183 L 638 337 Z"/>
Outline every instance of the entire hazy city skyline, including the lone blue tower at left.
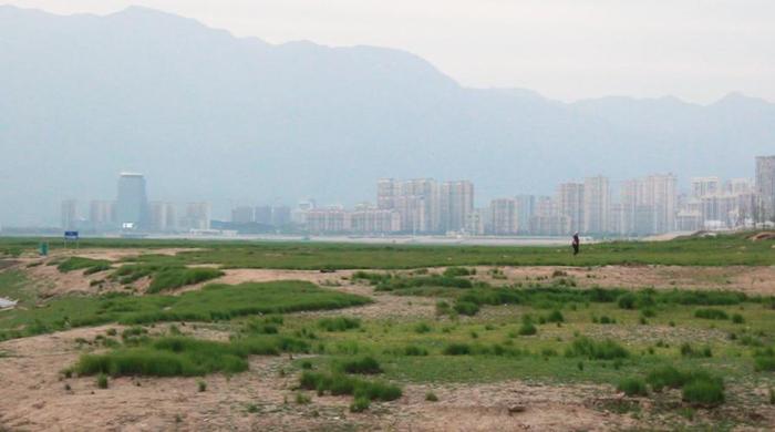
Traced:
<path fill-rule="evenodd" d="M 380 178 L 372 199 L 350 208 L 304 198 L 298 205 L 237 205 L 229 218 L 213 217 L 211 204 L 148 202 L 145 178 L 121 173 L 115 200 L 93 199 L 90 217 L 78 200 L 61 203 L 61 228 L 102 233 L 209 232 L 258 234 L 462 234 L 644 236 L 698 229 L 732 229 L 775 223 L 775 156 L 757 156 L 753 178 L 692 177 L 680 192 L 678 176 L 651 174 L 621 182 L 604 175 L 562 182 L 554 195 L 512 194 L 476 205 L 468 179 Z"/>

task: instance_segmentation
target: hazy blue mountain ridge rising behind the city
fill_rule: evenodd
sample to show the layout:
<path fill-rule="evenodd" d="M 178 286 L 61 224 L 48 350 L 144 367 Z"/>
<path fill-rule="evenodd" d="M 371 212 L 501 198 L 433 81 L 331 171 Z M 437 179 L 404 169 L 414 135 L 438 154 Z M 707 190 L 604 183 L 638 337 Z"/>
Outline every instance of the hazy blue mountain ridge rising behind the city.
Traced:
<path fill-rule="evenodd" d="M 752 177 L 775 104 L 609 96 L 564 103 L 467 89 L 375 47 L 270 44 L 151 9 L 55 16 L 0 6 L 0 224 L 55 224 L 59 202 L 374 200 L 379 177 L 467 178 L 477 200 L 562 181 L 673 172 Z"/>

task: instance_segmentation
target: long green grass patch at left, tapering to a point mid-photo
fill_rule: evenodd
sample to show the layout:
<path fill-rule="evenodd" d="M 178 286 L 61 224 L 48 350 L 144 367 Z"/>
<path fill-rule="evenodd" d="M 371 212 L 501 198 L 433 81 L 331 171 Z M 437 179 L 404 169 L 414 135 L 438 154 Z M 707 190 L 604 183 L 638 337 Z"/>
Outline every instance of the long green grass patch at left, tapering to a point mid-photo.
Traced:
<path fill-rule="evenodd" d="M 370 301 L 306 281 L 208 285 L 179 296 L 63 297 L 43 308 L 0 315 L 0 340 L 106 322 L 217 321 L 249 315 L 339 309 Z"/>

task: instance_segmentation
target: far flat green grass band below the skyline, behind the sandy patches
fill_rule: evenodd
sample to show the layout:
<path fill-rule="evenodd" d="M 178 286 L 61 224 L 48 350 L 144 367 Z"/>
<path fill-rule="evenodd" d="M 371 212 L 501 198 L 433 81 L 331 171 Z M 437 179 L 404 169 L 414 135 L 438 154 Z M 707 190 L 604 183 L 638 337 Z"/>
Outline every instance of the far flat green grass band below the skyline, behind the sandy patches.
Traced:
<path fill-rule="evenodd" d="M 421 268 L 438 266 L 601 266 L 601 265 L 676 265 L 676 266 L 769 266 L 775 265 L 773 241 L 752 241 L 754 233 L 720 235 L 705 238 L 680 238 L 671 241 L 610 241 L 586 245 L 572 256 L 567 247 L 492 247 L 492 246 L 417 246 L 352 245 L 319 243 L 250 243 L 83 239 L 81 247 L 162 248 L 190 247 L 200 250 L 175 256 L 146 255 L 140 261 L 157 265 L 216 264 L 227 268 Z M 0 249 L 34 250 L 41 238 L 0 238 Z M 58 243 L 48 239 L 52 247 Z"/>

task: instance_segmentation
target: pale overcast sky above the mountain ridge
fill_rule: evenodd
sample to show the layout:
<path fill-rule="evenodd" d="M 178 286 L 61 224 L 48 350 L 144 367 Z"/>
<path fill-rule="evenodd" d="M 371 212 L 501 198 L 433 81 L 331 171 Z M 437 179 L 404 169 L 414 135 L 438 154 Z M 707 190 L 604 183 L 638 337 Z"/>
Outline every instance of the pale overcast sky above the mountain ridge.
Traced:
<path fill-rule="evenodd" d="M 467 86 L 775 101 L 774 0 L 17 0 L 56 13 L 141 4 L 269 42 L 418 54 Z"/>

